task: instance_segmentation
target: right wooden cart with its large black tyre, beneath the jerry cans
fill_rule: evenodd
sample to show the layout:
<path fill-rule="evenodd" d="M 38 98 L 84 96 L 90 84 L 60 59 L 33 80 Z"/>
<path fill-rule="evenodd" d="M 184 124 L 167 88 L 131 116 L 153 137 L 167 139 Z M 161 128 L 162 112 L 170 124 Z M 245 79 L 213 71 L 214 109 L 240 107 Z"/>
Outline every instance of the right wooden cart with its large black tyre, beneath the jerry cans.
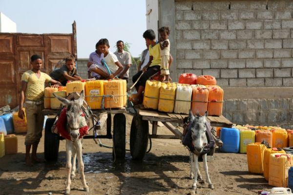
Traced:
<path fill-rule="evenodd" d="M 133 116 L 130 129 L 130 153 L 133 159 L 143 159 L 146 154 L 148 138 L 182 139 L 182 132 L 174 127 L 171 122 L 183 124 L 183 119 L 188 115 L 162 113 L 155 110 L 146 110 L 138 106 L 137 113 Z M 208 117 L 211 126 L 232 127 L 232 123 L 224 116 Z M 152 131 L 149 134 L 148 121 L 152 123 Z M 158 122 L 162 122 L 174 135 L 158 135 Z"/>

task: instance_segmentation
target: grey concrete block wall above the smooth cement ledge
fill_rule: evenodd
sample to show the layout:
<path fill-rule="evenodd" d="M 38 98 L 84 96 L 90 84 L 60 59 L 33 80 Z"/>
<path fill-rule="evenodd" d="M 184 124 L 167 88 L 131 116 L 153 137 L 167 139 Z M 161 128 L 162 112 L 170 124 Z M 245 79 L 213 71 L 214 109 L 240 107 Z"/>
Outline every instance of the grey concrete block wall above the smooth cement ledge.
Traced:
<path fill-rule="evenodd" d="M 222 87 L 293 86 L 292 0 L 175 0 L 177 77 Z"/>

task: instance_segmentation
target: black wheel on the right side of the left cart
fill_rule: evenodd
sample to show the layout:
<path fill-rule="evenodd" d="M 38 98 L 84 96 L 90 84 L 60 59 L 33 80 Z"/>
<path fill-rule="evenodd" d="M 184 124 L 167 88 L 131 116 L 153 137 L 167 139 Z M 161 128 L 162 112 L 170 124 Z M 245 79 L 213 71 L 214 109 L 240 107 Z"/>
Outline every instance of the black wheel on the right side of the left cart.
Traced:
<path fill-rule="evenodd" d="M 126 130 L 126 117 L 124 114 L 115 114 L 113 118 L 113 157 L 125 157 L 125 130 Z M 114 154 L 115 152 L 115 154 Z"/>

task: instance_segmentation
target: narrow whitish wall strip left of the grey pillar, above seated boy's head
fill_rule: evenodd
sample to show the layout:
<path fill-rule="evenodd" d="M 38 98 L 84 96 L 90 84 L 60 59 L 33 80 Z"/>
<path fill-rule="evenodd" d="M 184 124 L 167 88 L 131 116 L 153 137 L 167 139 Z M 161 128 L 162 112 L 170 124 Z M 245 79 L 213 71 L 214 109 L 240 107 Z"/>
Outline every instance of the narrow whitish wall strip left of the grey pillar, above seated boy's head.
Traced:
<path fill-rule="evenodd" d="M 159 6 L 158 0 L 146 0 L 146 29 L 152 29 L 158 39 Z"/>

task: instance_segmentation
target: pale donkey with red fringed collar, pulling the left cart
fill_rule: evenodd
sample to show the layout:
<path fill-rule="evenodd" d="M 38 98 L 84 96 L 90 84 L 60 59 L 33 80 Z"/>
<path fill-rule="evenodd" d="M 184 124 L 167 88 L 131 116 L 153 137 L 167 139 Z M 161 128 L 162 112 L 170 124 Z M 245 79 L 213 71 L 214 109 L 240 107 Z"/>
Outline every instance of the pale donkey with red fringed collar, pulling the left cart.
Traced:
<path fill-rule="evenodd" d="M 83 115 L 82 105 L 84 101 L 84 92 L 82 91 L 80 97 L 77 100 L 68 100 L 53 94 L 62 104 L 66 107 L 66 130 L 70 135 L 70 139 L 66 138 L 66 156 L 67 156 L 67 187 L 65 189 L 65 195 L 70 194 L 70 177 L 75 177 L 76 171 L 76 156 L 78 160 L 78 167 L 81 174 L 81 181 L 84 186 L 84 191 L 89 192 L 89 188 L 86 185 L 84 178 L 84 162 L 82 156 L 82 139 L 80 137 L 80 124 L 81 116 Z M 73 162 L 71 164 L 71 156 L 73 156 Z"/>

